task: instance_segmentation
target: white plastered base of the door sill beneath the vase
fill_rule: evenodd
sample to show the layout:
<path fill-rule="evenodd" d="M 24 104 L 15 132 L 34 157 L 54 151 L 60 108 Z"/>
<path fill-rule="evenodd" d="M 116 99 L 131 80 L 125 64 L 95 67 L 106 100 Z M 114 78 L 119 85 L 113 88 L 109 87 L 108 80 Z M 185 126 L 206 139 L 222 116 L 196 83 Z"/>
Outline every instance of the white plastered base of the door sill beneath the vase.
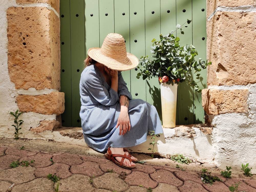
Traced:
<path fill-rule="evenodd" d="M 210 135 L 205 135 L 199 128 L 194 127 L 196 137 L 193 139 L 185 137 L 171 138 L 170 136 L 174 135 L 175 130 L 171 128 L 164 128 L 163 130 L 164 134 L 156 139 L 158 145 L 155 146 L 156 152 L 161 156 L 170 157 L 170 155 L 179 153 L 204 162 L 212 162 L 214 155 Z M 149 147 L 153 147 L 150 145 L 151 142 L 151 136 L 148 136 L 146 142 L 129 149 L 133 152 L 151 153 L 152 150 L 148 150 Z"/>

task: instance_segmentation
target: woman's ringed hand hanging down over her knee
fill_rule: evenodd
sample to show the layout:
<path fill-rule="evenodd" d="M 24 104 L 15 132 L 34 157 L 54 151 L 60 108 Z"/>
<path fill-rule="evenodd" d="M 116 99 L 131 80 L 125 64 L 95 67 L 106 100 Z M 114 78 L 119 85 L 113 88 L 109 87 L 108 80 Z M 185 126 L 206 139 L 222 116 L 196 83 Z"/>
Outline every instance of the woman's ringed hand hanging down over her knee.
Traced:
<path fill-rule="evenodd" d="M 119 135 L 124 135 L 127 131 L 131 129 L 130 118 L 128 115 L 128 108 L 124 105 L 121 106 L 121 111 L 117 120 L 115 128 L 119 125 Z M 122 133 L 123 130 L 123 133 Z"/>

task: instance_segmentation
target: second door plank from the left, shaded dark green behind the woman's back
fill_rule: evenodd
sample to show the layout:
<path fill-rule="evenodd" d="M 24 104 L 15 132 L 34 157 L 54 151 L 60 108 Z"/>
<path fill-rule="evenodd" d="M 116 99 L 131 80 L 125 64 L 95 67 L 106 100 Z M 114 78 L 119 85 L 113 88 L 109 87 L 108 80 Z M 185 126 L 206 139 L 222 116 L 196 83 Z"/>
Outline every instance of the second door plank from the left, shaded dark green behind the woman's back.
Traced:
<path fill-rule="evenodd" d="M 80 127 L 79 116 L 81 101 L 79 82 L 81 66 L 85 58 L 84 41 L 84 1 L 70 1 L 70 40 L 71 40 L 71 91 L 72 91 L 72 126 Z"/>

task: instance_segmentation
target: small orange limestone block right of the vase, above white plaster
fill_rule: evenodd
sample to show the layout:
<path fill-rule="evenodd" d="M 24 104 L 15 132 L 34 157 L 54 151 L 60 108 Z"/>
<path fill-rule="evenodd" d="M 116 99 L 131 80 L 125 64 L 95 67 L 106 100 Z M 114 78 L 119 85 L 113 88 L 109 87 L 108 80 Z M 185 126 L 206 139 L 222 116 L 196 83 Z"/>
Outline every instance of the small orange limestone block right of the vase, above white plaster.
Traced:
<path fill-rule="evenodd" d="M 248 90 L 202 90 L 202 106 L 207 114 L 218 115 L 223 113 L 246 113 Z"/>

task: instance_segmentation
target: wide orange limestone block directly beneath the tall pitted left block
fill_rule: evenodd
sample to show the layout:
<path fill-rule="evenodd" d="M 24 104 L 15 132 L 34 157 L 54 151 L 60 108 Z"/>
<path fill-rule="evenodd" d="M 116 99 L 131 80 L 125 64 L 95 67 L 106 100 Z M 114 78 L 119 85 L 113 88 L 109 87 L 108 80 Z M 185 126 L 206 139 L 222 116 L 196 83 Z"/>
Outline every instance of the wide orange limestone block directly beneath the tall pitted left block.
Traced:
<path fill-rule="evenodd" d="M 51 92 L 45 95 L 18 95 L 16 101 L 19 110 L 23 112 L 59 115 L 65 109 L 63 92 Z"/>

